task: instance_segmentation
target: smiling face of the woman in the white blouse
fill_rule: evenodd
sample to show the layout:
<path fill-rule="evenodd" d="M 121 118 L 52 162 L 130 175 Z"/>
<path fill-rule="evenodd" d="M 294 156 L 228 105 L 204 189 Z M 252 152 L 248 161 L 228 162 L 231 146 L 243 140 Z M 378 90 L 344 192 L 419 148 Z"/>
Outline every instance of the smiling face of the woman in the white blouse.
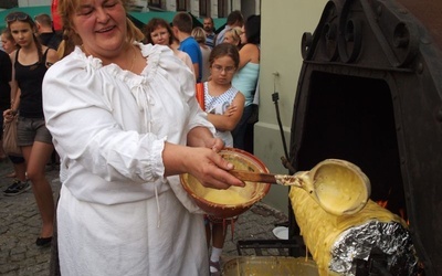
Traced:
<path fill-rule="evenodd" d="M 124 49 L 127 24 L 120 0 L 81 0 L 72 20 L 86 53 L 110 57 Z"/>

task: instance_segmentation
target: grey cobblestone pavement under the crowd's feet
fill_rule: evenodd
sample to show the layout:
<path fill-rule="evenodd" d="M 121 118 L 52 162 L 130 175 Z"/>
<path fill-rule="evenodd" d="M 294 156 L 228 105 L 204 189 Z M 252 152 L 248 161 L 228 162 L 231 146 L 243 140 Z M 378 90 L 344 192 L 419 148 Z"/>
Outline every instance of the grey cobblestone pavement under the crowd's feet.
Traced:
<path fill-rule="evenodd" d="M 11 171 L 11 162 L 0 163 L 0 191 L 4 191 L 12 183 L 12 179 L 6 177 Z M 60 190 L 59 171 L 49 171 L 48 178 L 56 199 Z M 275 224 L 286 220 L 282 212 L 266 204 L 253 205 L 239 216 L 234 224 L 233 236 L 230 227 L 228 229 L 222 258 L 228 259 L 238 255 L 238 241 L 276 240 L 272 230 Z M 4 197 L 0 193 L 0 275 L 49 275 L 51 248 L 35 246 L 40 222 L 32 189 L 17 197 Z"/>

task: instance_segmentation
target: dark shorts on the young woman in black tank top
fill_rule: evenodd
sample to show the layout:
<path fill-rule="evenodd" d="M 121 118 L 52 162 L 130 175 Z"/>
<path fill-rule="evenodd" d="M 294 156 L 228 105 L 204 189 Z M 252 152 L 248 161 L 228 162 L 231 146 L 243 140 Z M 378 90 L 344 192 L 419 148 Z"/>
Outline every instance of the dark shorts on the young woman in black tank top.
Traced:
<path fill-rule="evenodd" d="M 24 118 L 19 116 L 17 140 L 20 147 L 32 146 L 34 141 L 52 145 L 52 135 L 46 128 L 44 118 Z"/>

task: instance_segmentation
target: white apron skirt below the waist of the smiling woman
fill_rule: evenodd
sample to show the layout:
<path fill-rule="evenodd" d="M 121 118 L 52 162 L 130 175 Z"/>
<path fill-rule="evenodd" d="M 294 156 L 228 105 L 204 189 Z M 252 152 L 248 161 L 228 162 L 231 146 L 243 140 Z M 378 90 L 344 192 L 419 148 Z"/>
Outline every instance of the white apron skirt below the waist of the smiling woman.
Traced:
<path fill-rule="evenodd" d="M 70 233 L 59 236 L 63 276 L 209 275 L 203 217 L 172 191 L 159 194 L 161 217 L 155 198 L 106 206 L 78 201 L 65 187 L 61 198 L 59 233 Z"/>

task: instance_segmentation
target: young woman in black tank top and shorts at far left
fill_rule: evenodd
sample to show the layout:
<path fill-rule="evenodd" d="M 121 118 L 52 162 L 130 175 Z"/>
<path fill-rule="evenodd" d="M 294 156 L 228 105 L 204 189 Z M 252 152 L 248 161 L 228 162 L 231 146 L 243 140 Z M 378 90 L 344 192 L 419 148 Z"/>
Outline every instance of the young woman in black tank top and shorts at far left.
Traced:
<path fill-rule="evenodd" d="M 38 246 L 52 241 L 54 199 L 45 177 L 45 166 L 54 146 L 43 115 L 42 82 L 48 67 L 59 59 L 56 51 L 43 46 L 35 36 L 36 26 L 29 14 L 12 12 L 6 17 L 8 30 L 18 50 L 12 52 L 12 95 L 10 109 L 4 110 L 6 120 L 19 114 L 17 126 L 18 145 L 27 162 L 28 179 L 32 183 L 35 202 L 42 219 L 42 229 L 36 238 Z"/>

